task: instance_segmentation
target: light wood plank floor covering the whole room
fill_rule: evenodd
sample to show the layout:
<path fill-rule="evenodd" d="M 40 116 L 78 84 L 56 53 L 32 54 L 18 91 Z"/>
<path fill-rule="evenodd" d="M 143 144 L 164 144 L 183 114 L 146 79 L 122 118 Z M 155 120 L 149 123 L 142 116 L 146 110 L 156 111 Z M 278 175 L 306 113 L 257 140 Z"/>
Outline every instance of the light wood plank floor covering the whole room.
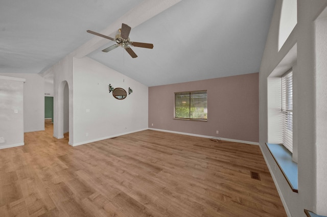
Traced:
<path fill-rule="evenodd" d="M 145 130 L 71 147 L 52 134 L 47 122 L 0 150 L 0 216 L 286 216 L 258 146 Z"/>

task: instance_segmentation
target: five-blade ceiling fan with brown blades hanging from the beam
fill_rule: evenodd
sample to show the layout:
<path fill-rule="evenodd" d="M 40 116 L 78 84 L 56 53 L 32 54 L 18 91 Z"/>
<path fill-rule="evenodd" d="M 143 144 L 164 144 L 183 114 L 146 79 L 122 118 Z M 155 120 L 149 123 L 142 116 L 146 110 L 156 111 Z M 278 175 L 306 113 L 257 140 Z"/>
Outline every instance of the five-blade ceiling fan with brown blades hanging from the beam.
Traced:
<path fill-rule="evenodd" d="M 86 32 L 96 35 L 96 36 L 100 36 L 106 39 L 109 39 L 111 41 L 115 41 L 117 44 L 111 45 L 110 47 L 107 47 L 106 49 L 103 49 L 103 52 L 108 52 L 110 50 L 113 50 L 114 48 L 117 47 L 123 47 L 132 58 L 136 58 L 137 55 L 136 53 L 134 53 L 134 51 L 130 48 L 130 46 L 133 47 L 144 47 L 144 48 L 153 48 L 153 44 L 149 44 L 149 43 L 142 43 L 142 42 L 133 42 L 129 40 L 129 33 L 131 31 L 132 28 L 130 28 L 130 26 L 128 26 L 125 23 L 122 23 L 122 28 L 119 29 L 119 34 L 116 35 L 115 38 L 111 38 L 109 36 L 105 36 L 102 35 L 100 33 L 96 33 L 90 30 L 87 30 Z"/>

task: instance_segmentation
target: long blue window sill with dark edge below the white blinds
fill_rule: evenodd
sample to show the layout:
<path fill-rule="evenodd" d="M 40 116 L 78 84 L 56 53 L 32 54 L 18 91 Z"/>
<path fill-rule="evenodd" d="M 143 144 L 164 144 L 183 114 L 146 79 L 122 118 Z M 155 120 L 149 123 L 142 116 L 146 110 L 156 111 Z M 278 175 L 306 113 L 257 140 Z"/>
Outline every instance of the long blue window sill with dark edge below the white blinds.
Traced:
<path fill-rule="evenodd" d="M 292 160 L 292 153 L 283 145 L 266 143 L 268 150 L 281 169 L 293 192 L 298 192 L 297 164 Z"/>

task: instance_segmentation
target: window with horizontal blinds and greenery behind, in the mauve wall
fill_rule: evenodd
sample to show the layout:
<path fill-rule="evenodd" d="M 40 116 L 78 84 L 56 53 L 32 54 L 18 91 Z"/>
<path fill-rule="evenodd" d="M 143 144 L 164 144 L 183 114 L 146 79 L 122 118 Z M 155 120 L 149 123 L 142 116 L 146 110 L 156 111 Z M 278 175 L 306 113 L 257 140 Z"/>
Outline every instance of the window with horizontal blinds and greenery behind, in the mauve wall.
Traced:
<path fill-rule="evenodd" d="M 175 118 L 207 120 L 207 93 L 205 91 L 175 93 Z"/>

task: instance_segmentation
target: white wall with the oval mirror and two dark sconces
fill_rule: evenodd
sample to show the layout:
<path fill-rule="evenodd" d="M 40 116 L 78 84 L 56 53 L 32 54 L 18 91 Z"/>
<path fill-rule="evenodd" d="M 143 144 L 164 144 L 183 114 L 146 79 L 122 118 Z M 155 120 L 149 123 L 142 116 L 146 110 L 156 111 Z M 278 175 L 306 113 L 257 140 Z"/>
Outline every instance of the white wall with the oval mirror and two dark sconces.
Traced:
<path fill-rule="evenodd" d="M 109 84 L 127 92 L 130 87 L 133 93 L 115 99 Z M 90 58 L 74 59 L 73 146 L 147 128 L 147 86 Z"/>

